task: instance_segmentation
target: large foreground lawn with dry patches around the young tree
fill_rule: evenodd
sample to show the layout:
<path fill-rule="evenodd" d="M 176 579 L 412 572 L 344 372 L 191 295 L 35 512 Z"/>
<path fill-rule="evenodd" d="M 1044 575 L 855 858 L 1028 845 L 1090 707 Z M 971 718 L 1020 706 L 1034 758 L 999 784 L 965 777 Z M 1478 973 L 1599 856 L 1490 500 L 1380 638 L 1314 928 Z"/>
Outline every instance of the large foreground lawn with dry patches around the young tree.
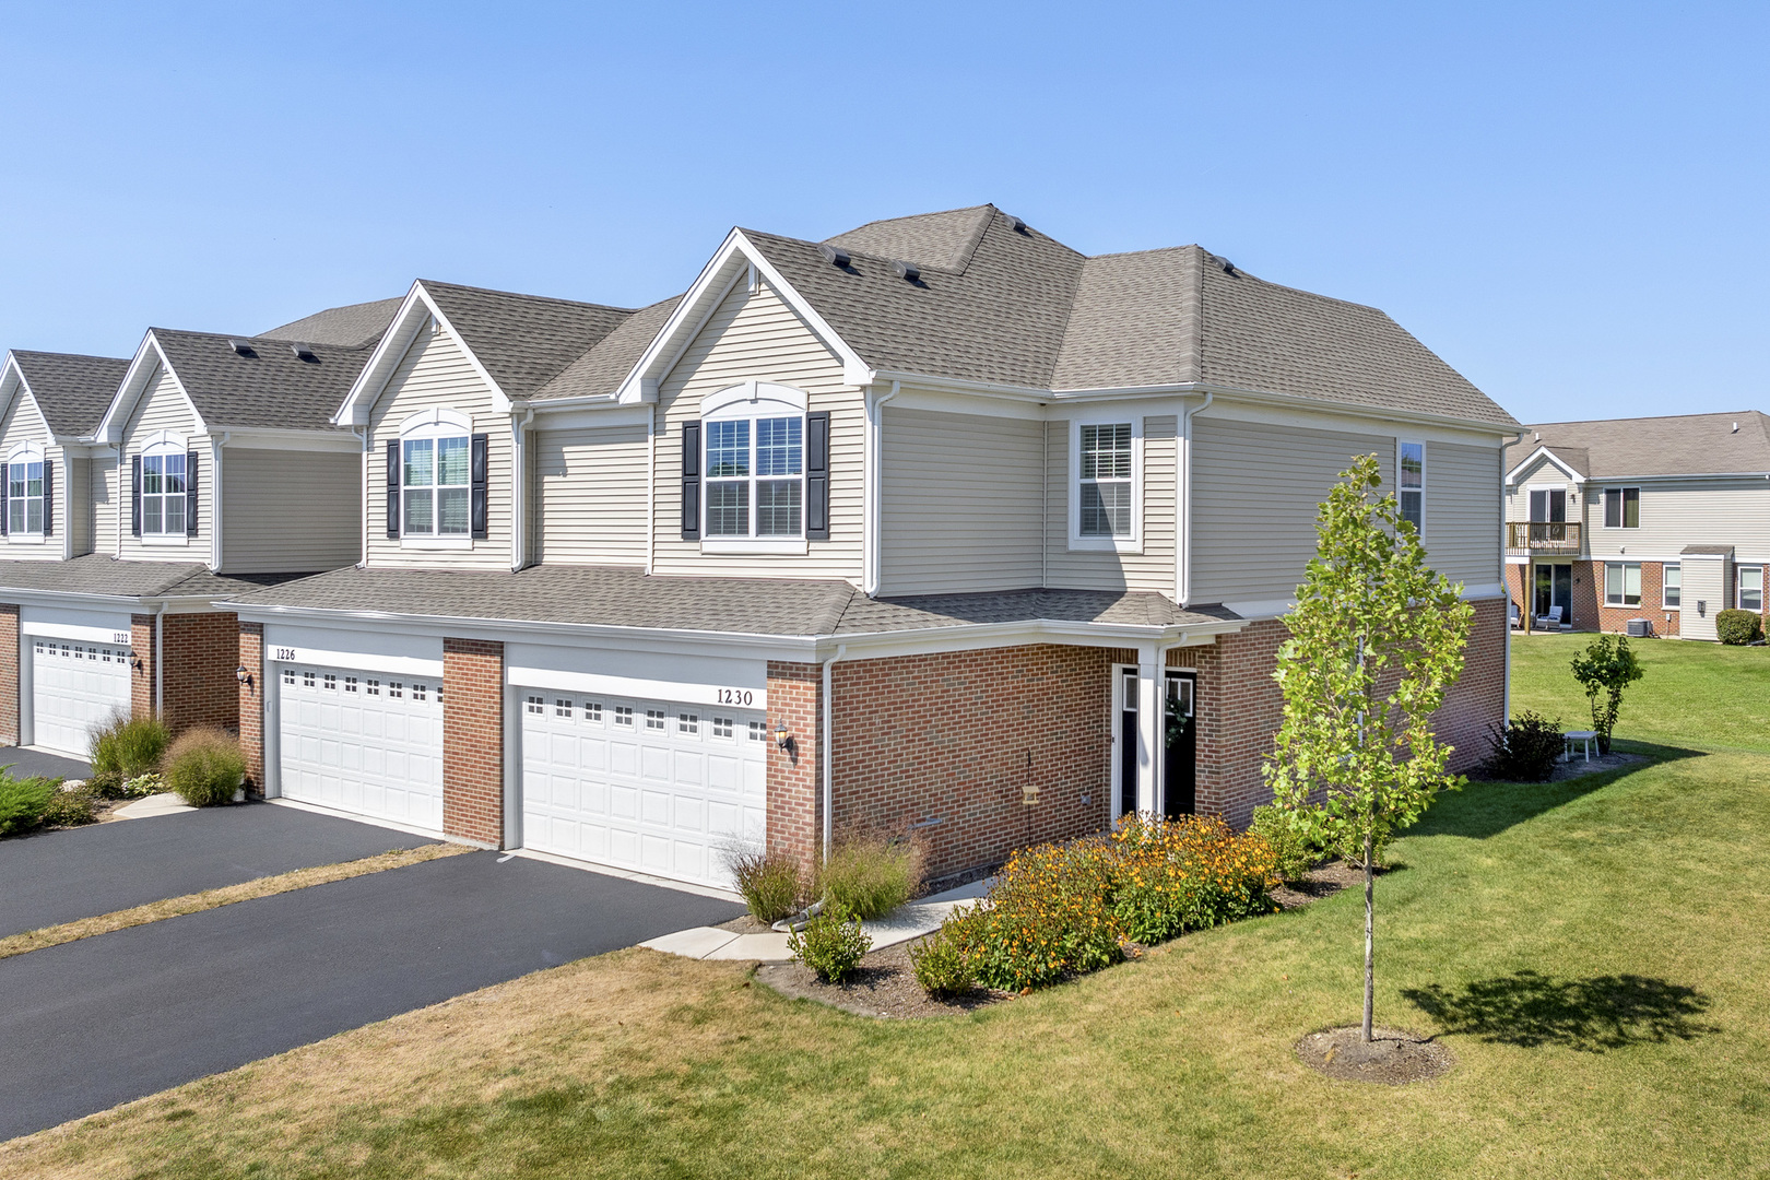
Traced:
<path fill-rule="evenodd" d="M 1432 1083 L 1292 1054 L 1358 1017 L 1347 892 L 920 1023 L 586 959 L 14 1141 L 0 1176 L 1765 1176 L 1770 757 L 1658 754 L 1471 785 L 1397 842 L 1377 1015 L 1448 1030 Z"/>

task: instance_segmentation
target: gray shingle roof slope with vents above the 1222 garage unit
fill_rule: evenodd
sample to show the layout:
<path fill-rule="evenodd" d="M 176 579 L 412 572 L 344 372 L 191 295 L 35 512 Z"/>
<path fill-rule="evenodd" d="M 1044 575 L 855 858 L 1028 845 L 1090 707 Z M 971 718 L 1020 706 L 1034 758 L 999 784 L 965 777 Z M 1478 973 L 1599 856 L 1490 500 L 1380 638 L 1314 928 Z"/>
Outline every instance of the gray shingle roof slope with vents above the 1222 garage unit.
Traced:
<path fill-rule="evenodd" d="M 248 357 L 228 345 L 228 336 L 149 331 L 209 426 L 335 430 L 331 416 L 372 352 L 317 343 L 315 359 L 303 361 L 289 343 L 234 336 L 251 343 L 255 356 Z"/>

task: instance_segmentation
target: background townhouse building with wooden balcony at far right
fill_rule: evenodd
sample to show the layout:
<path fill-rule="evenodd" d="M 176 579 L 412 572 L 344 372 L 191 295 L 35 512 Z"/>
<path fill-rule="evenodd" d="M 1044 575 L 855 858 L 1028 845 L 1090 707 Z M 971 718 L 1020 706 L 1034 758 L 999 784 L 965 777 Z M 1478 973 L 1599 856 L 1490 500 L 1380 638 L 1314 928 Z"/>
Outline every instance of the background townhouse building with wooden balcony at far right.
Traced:
<path fill-rule="evenodd" d="M 1766 612 L 1770 418 L 1543 423 L 1506 449 L 1506 582 L 1517 624 L 1715 639 Z"/>

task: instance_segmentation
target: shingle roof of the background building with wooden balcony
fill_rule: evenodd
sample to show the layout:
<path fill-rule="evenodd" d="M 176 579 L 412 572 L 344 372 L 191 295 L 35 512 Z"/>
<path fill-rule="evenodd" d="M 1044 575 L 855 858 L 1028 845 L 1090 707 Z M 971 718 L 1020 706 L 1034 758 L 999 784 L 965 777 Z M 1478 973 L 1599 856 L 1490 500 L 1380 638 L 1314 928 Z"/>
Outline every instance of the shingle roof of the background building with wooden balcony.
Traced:
<path fill-rule="evenodd" d="M 1543 423 L 1524 430 L 1524 441 L 1506 448 L 1508 472 L 1540 446 L 1589 479 L 1770 472 L 1770 416 L 1758 410 Z"/>

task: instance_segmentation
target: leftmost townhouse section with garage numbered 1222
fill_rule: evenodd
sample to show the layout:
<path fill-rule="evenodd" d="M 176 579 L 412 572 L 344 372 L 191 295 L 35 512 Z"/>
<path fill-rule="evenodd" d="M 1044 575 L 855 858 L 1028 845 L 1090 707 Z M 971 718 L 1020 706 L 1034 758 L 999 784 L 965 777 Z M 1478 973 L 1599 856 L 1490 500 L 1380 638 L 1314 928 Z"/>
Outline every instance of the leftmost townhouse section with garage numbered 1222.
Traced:
<path fill-rule="evenodd" d="M 395 308 L 7 356 L 0 741 L 83 755 L 115 711 L 239 725 L 216 601 L 358 559 L 359 442 L 331 416 Z"/>

